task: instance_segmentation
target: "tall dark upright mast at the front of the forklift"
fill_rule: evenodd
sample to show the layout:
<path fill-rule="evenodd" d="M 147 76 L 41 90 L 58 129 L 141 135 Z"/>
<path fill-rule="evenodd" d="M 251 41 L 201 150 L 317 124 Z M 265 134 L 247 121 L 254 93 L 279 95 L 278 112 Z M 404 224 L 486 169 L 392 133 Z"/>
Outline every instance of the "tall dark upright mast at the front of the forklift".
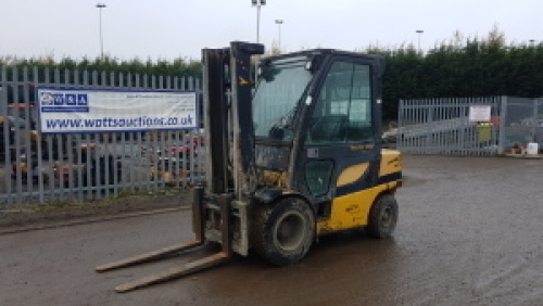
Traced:
<path fill-rule="evenodd" d="M 256 187 L 251 56 L 263 53 L 263 44 L 237 41 L 230 48 L 202 50 L 206 181 L 211 194 L 233 191 L 237 200 L 245 201 Z"/>

